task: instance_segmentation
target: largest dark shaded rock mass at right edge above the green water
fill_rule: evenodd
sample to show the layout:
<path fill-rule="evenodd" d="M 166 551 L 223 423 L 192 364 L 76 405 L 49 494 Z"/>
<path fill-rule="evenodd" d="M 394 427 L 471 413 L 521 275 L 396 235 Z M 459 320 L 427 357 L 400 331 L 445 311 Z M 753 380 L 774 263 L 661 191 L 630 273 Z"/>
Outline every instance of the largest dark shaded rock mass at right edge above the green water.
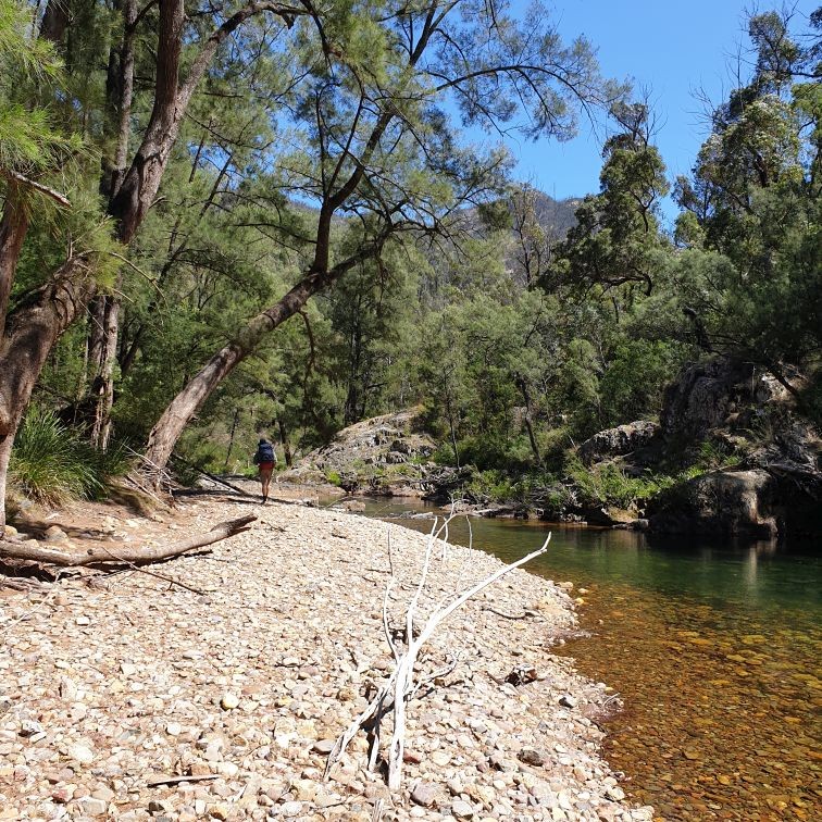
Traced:
<path fill-rule="evenodd" d="M 734 464 L 652 500 L 651 531 L 753 537 L 822 531 L 820 438 L 772 375 L 724 359 L 690 366 L 665 395 L 660 437 L 685 458 L 707 444 Z"/>

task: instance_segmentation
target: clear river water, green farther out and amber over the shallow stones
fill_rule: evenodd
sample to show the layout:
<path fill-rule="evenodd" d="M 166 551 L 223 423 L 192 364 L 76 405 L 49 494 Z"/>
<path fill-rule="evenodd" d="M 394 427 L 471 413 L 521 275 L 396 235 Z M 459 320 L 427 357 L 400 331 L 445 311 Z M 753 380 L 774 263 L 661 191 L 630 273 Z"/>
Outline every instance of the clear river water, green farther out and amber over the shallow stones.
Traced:
<path fill-rule="evenodd" d="M 366 514 L 441 513 L 369 500 Z M 431 521 L 401 520 L 429 531 Z M 822 820 L 822 551 L 472 519 L 473 545 L 571 581 L 588 636 L 557 649 L 612 686 L 605 753 L 662 820 Z M 468 545 L 464 519 L 451 541 Z M 582 593 L 580 589 L 584 589 Z"/>

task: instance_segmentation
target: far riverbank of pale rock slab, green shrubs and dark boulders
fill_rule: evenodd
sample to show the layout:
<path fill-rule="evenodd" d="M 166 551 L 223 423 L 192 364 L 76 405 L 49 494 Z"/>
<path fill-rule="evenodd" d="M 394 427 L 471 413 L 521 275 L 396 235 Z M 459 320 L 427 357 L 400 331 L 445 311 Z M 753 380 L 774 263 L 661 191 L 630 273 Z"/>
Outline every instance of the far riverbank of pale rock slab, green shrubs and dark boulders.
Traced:
<path fill-rule="evenodd" d="M 792 375 L 801 384 L 798 375 Z M 796 397 L 750 363 L 715 357 L 672 383 L 659 423 L 598 432 L 553 472 L 433 460 L 420 409 L 364 420 L 282 474 L 349 494 L 424 497 L 485 516 L 656 533 L 774 538 L 822 530 L 822 439 Z"/>

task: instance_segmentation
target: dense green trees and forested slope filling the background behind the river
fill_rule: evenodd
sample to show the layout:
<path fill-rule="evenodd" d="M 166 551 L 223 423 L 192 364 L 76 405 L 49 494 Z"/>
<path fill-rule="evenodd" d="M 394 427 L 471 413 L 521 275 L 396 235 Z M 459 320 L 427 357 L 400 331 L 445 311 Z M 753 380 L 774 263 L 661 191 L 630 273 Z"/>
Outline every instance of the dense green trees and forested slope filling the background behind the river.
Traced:
<path fill-rule="evenodd" d="M 97 493 L 162 484 L 175 453 L 246 471 L 261 434 L 290 463 L 412 407 L 475 489 L 647 497 L 767 425 L 638 479 L 585 479 L 576 447 L 717 358 L 818 425 L 821 27 L 750 17 L 672 180 L 649 105 L 536 7 L 0 0 L 0 500 L 7 469 L 48 493 L 48 437 Z M 609 136 L 573 201 L 464 132 L 586 116 Z"/>

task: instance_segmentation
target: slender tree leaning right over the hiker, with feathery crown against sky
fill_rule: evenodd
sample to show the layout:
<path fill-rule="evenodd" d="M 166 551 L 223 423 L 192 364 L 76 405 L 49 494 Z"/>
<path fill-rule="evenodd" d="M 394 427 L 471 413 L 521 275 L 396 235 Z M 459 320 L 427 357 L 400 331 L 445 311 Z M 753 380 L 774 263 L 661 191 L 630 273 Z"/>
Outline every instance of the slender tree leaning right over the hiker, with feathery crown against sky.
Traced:
<path fill-rule="evenodd" d="M 581 110 L 622 92 L 601 80 L 588 43 L 563 45 L 538 5 L 518 21 L 505 3 L 484 0 L 363 0 L 345 12 L 314 9 L 297 26 L 307 82 L 291 112 L 297 145 L 278 158 L 277 178 L 316 209 L 304 238 L 310 259 L 170 403 L 148 440 L 154 469 L 221 381 L 313 295 L 388 245 L 454 231 L 465 207 L 499 194 L 506 157 L 460 147 L 446 105 L 464 123 L 563 139 Z M 340 219 L 352 250 L 336 253 L 332 226 Z"/>

